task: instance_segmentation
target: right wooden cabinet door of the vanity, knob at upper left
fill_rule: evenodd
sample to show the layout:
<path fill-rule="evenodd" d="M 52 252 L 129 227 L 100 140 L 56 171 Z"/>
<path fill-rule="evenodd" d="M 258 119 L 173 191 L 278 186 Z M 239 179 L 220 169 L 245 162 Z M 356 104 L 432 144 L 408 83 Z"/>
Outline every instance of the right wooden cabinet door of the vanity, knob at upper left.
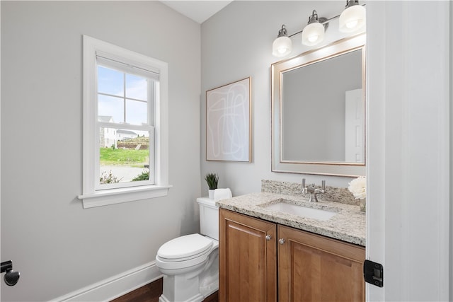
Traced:
<path fill-rule="evenodd" d="M 280 301 L 365 301 L 365 248 L 278 226 Z"/>

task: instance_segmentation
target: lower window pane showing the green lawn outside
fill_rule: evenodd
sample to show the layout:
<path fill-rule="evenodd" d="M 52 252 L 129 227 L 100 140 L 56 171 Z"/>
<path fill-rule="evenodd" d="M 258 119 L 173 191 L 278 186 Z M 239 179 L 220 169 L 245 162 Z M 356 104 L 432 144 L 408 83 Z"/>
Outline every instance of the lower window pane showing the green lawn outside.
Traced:
<path fill-rule="evenodd" d="M 100 128 L 100 184 L 149 180 L 149 132 Z"/>

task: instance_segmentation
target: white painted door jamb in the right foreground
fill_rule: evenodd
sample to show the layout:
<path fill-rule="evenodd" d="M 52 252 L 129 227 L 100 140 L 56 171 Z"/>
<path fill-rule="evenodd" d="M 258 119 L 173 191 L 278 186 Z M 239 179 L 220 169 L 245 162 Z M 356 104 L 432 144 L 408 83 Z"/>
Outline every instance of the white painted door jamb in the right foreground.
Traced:
<path fill-rule="evenodd" d="M 367 1 L 368 301 L 453 299 L 452 4 Z"/>

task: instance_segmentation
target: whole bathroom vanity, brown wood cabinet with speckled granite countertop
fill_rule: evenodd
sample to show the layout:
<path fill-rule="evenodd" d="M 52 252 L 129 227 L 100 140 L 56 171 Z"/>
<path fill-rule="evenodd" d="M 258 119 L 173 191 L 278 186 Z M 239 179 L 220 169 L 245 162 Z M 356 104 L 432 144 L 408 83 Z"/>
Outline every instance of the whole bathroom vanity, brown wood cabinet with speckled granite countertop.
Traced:
<path fill-rule="evenodd" d="M 260 192 L 216 203 L 220 301 L 365 301 L 365 213 L 307 200 Z"/>

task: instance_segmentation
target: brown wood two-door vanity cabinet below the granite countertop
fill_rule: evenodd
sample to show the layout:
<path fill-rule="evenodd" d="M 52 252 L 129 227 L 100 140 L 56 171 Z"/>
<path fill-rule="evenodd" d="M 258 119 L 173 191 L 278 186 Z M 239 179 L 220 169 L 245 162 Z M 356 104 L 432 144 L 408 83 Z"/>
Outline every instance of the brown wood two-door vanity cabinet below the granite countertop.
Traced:
<path fill-rule="evenodd" d="M 226 209 L 219 261 L 219 301 L 365 301 L 365 248 Z"/>

